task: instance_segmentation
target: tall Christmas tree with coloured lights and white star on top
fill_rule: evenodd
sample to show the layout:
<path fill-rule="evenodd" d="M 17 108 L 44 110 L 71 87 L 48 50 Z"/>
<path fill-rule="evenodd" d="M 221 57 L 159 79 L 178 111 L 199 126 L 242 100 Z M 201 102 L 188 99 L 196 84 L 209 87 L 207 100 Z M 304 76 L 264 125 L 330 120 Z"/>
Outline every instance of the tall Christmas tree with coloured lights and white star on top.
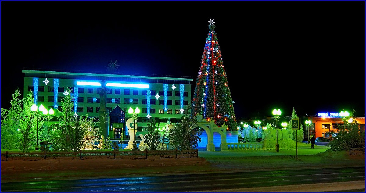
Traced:
<path fill-rule="evenodd" d="M 209 21 L 209 34 L 203 48 L 201 67 L 193 96 L 192 112 L 201 114 L 215 124 L 228 125 L 228 130 L 236 130 L 234 106 L 229 83 L 221 58 L 221 50 L 214 31 L 213 20 Z"/>

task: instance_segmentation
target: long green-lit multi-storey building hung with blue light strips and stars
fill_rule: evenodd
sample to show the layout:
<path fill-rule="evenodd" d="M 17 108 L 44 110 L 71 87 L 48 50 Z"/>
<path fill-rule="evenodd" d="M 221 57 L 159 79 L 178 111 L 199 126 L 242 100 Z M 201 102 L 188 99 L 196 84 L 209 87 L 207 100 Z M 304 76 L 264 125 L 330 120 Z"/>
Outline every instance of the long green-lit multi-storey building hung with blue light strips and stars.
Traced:
<path fill-rule="evenodd" d="M 138 107 L 141 112 L 137 119 L 136 135 L 146 131 L 147 123 L 172 122 L 182 117 L 191 101 L 191 77 L 160 75 L 103 74 L 100 72 L 60 72 L 23 70 L 24 95 L 34 94 L 34 102 L 46 109 L 60 109 L 61 100 L 71 87 L 74 111 L 79 116 L 99 117 L 101 83 L 108 90 L 109 130 L 111 139 L 128 137 L 126 120 L 128 109 Z M 36 89 L 35 89 L 36 88 Z"/>

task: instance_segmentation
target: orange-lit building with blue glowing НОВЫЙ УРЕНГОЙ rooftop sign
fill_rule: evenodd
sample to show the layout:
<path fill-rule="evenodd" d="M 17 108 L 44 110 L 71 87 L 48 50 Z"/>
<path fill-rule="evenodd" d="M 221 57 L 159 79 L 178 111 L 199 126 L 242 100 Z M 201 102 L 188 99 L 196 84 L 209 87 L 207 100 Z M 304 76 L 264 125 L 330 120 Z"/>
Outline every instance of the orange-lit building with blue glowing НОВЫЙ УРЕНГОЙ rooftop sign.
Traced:
<path fill-rule="evenodd" d="M 332 137 L 332 133 L 337 132 L 337 125 L 343 124 L 343 120 L 339 116 L 339 113 L 318 113 L 318 116 L 304 117 L 305 120 L 310 120 L 309 136 L 314 135 L 316 137 Z M 361 131 L 365 132 L 365 117 L 353 117 L 359 123 Z M 303 122 L 305 122 L 305 120 Z M 306 125 L 303 123 L 303 125 Z M 306 126 L 305 126 L 306 128 Z M 307 134 L 307 128 L 304 128 L 304 136 Z M 307 136 L 305 136 L 306 138 Z"/>

